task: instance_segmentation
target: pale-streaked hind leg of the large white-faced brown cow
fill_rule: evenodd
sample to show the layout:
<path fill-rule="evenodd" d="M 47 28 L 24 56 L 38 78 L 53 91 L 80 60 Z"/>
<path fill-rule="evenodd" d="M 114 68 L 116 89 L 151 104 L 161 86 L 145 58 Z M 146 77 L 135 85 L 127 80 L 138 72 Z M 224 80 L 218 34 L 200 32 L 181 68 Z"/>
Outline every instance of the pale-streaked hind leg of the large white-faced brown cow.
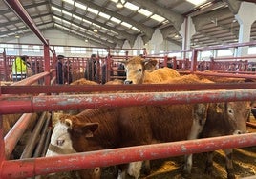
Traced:
<path fill-rule="evenodd" d="M 207 117 L 208 104 L 195 104 L 193 109 L 193 123 L 188 135 L 188 140 L 197 139 L 202 132 Z M 184 171 L 191 173 L 193 155 L 185 155 Z"/>

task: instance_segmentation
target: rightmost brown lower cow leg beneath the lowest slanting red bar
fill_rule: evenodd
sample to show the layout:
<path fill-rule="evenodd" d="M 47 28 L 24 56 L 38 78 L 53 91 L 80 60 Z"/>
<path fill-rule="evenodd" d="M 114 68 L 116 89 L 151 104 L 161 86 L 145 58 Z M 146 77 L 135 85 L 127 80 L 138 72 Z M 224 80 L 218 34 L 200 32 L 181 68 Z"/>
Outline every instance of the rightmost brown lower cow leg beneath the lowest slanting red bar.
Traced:
<path fill-rule="evenodd" d="M 233 168 L 233 149 L 224 149 L 225 153 L 225 170 L 227 172 L 228 179 L 235 179 Z"/>

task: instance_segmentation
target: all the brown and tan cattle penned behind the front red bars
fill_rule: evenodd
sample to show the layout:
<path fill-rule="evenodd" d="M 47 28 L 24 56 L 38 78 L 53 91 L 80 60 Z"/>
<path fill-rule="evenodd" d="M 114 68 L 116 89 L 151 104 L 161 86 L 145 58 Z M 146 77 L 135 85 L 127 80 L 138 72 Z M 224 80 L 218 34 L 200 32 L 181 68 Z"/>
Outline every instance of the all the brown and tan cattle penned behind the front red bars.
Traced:
<path fill-rule="evenodd" d="M 148 70 L 147 67 L 154 64 L 154 60 L 131 58 L 125 62 L 126 80 L 113 84 L 215 83 L 202 76 L 180 75 L 169 68 Z M 72 85 L 86 84 L 83 81 L 86 80 Z M 251 105 L 252 102 L 243 101 L 84 109 L 75 114 L 62 114 L 54 125 L 46 156 L 242 134 L 247 131 Z M 224 149 L 224 154 L 226 178 L 235 179 L 232 149 Z M 192 155 L 184 156 L 184 177 L 189 178 L 189 173 L 193 172 L 192 163 Z M 123 179 L 139 178 L 141 169 L 150 173 L 151 167 L 150 161 L 138 161 L 115 169 L 115 177 Z M 83 169 L 78 175 L 79 178 L 97 179 L 101 177 L 101 170 Z M 205 172 L 210 175 L 213 170 L 213 152 L 209 152 Z"/>

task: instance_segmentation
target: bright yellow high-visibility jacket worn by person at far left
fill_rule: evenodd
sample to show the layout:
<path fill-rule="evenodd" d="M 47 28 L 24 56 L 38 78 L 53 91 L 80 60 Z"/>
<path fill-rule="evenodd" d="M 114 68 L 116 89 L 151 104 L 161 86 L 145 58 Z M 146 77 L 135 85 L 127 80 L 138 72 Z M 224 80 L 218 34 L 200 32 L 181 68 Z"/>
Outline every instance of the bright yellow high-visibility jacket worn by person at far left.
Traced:
<path fill-rule="evenodd" d="M 27 65 L 20 57 L 17 57 L 12 64 L 12 77 L 13 78 L 26 78 Z"/>

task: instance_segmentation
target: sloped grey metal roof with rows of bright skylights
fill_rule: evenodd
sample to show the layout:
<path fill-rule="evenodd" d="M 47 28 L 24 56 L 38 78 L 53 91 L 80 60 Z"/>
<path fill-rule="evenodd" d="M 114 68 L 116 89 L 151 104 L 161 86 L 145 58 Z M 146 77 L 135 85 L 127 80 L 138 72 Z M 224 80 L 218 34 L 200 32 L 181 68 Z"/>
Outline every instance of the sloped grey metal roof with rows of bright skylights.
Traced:
<path fill-rule="evenodd" d="M 181 46 L 179 30 L 186 16 L 196 25 L 192 47 L 224 45 L 238 41 L 239 24 L 234 14 L 241 1 L 204 0 L 194 5 L 188 0 L 22 0 L 20 3 L 39 30 L 57 29 L 72 33 L 96 45 L 122 47 L 125 40 L 134 43 L 141 36 L 146 43 L 154 30 L 163 38 Z M 5 2 L 0 1 L 0 40 L 32 33 Z M 256 24 L 251 39 L 256 38 Z"/>

